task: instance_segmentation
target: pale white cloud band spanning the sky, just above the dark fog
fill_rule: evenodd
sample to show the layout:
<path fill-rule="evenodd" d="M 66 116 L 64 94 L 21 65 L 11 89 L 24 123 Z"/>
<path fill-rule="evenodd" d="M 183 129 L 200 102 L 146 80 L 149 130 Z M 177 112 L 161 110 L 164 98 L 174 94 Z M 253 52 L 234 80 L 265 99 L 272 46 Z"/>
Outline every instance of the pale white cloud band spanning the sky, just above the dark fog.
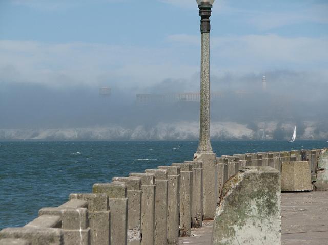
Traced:
<path fill-rule="evenodd" d="M 167 47 L 161 49 L 0 40 L 0 82 L 51 86 L 110 83 L 137 90 L 167 78 L 192 80 L 199 72 L 199 53 L 199 36 L 187 34 L 168 36 Z M 315 71 L 327 78 L 327 56 L 328 37 L 271 34 L 211 39 L 211 71 L 219 77 L 226 72 L 248 74 L 283 69 Z"/>

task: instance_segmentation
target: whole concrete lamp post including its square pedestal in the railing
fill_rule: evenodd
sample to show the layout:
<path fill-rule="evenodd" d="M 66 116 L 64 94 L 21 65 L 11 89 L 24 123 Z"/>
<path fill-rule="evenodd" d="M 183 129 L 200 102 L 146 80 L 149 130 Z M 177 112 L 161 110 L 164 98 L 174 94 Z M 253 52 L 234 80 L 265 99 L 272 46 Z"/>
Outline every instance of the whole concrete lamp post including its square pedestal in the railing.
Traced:
<path fill-rule="evenodd" d="M 210 16 L 214 0 L 196 0 L 201 32 L 199 144 L 195 161 L 203 167 L 203 217 L 214 219 L 218 201 L 216 154 L 210 140 Z"/>

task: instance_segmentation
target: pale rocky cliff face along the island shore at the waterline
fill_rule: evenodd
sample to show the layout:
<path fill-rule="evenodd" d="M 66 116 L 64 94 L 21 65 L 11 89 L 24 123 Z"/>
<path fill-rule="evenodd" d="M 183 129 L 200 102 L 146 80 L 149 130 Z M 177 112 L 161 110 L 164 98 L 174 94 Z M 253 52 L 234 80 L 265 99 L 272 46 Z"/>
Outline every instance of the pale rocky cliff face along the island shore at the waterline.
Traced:
<path fill-rule="evenodd" d="M 328 129 L 323 123 L 294 122 L 212 122 L 212 140 L 272 140 L 290 139 L 297 125 L 297 139 L 328 139 Z M 179 121 L 139 125 L 134 128 L 112 125 L 66 129 L 0 129 L 0 140 L 197 140 L 199 123 Z"/>

